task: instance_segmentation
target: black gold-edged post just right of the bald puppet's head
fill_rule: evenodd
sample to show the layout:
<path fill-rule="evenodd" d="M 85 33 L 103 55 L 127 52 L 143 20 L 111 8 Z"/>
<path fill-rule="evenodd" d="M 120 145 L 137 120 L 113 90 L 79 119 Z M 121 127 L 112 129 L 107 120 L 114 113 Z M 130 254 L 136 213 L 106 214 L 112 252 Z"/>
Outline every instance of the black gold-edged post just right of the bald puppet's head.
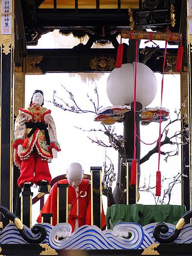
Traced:
<path fill-rule="evenodd" d="M 91 225 L 102 229 L 102 167 L 91 167 Z"/>

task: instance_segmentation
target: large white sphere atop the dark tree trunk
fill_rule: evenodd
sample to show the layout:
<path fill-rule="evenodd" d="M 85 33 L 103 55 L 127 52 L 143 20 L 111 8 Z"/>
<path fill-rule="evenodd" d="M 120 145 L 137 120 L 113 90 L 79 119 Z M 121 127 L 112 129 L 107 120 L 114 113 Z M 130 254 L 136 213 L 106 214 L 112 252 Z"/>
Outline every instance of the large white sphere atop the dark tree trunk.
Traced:
<path fill-rule="evenodd" d="M 107 95 L 113 105 L 131 104 L 134 102 L 134 65 L 122 64 L 115 68 L 108 77 Z M 136 101 L 148 106 L 157 93 L 157 79 L 153 71 L 145 64 L 137 62 Z"/>

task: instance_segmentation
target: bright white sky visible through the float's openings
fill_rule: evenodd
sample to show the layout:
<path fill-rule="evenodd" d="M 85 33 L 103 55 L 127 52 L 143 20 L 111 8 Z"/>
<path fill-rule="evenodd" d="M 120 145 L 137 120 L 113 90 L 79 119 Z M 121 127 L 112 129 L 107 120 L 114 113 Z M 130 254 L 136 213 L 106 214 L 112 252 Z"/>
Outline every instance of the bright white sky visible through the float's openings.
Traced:
<path fill-rule="evenodd" d="M 59 38 L 59 41 L 57 40 Z M 62 39 L 63 38 L 63 39 Z M 56 43 L 55 43 L 56 40 Z M 62 41 L 64 40 L 64 41 Z M 38 46 L 36 48 L 64 48 L 68 43 L 65 42 L 66 37 L 48 33 L 43 35 L 39 40 Z M 67 39 L 68 40 L 68 39 Z M 67 41 L 68 42 L 68 41 Z M 126 41 L 126 43 L 128 43 Z M 162 42 L 161 42 L 162 43 Z M 142 43 L 143 44 L 143 43 Z M 144 44 L 143 44 L 144 45 Z M 69 45 L 68 45 L 69 46 Z M 150 43 L 149 45 L 150 46 Z M 164 46 L 164 42 L 163 42 Z M 143 47 L 143 46 L 142 46 Z M 33 47 L 30 47 L 33 48 Z M 108 100 L 106 94 L 106 83 L 110 73 L 105 73 L 101 76 L 99 81 L 96 81 L 96 85 L 99 93 L 99 105 L 103 107 L 110 106 L 111 103 Z M 155 73 L 158 82 L 157 95 L 149 107 L 160 106 L 160 87 L 162 75 Z M 91 98 L 95 98 L 94 84 L 91 82 L 84 83 L 81 78 L 76 75 L 70 77 L 67 73 L 54 73 L 46 75 L 32 75 L 26 76 L 26 102 L 25 106 L 29 106 L 29 102 L 32 93 L 36 89 L 40 89 L 44 92 L 44 99 L 47 101 L 52 101 L 53 90 L 56 90 L 58 96 L 65 99 L 66 102 L 70 103 L 69 97 L 65 93 L 61 84 L 63 84 L 67 90 L 73 93 L 76 102 L 81 106 L 81 108 L 91 110 L 91 102 L 87 99 L 87 93 Z M 96 99 L 96 98 L 95 98 Z M 73 104 L 72 104 L 73 105 Z M 96 134 L 95 132 L 83 132 L 78 130 L 74 126 L 78 126 L 84 129 L 91 128 L 102 128 L 99 122 L 94 122 L 94 114 L 91 113 L 70 113 L 68 111 L 62 111 L 56 108 L 52 103 L 44 102 L 44 107 L 51 109 L 52 116 L 55 121 L 58 142 L 61 145 L 61 152 L 58 153 L 58 158 L 54 159 L 51 164 L 49 164 L 49 169 L 52 178 L 67 172 L 67 166 L 72 162 L 79 162 L 83 166 L 84 173 L 90 174 L 90 166 L 102 166 L 105 158 L 105 148 L 98 146 L 87 138 L 87 136 L 98 137 L 102 140 L 108 141 L 108 137 L 102 133 Z M 164 91 L 163 91 L 163 104 L 162 107 L 168 108 L 170 110 L 171 119 L 175 118 L 174 111 L 180 108 L 180 76 L 179 75 L 165 75 L 164 76 Z M 166 125 L 166 122 L 162 124 L 162 128 Z M 115 124 L 116 133 L 123 134 L 123 124 Z M 140 127 L 140 137 L 147 143 L 151 143 L 158 138 L 159 132 L 158 123 L 151 123 L 150 125 Z M 173 128 L 169 129 L 170 135 L 172 136 L 175 131 L 180 130 L 180 123 L 173 125 Z M 169 151 L 172 146 L 165 145 L 162 147 L 163 151 Z M 144 145 L 141 143 L 141 158 L 151 149 L 153 145 Z M 114 149 L 107 149 L 108 156 L 113 160 L 115 170 L 117 169 L 118 152 Z M 172 178 L 181 170 L 180 155 L 177 157 L 170 157 L 168 163 L 163 161 L 164 156 L 161 156 L 160 171 L 162 172 L 162 177 Z M 149 177 L 151 175 L 150 186 L 155 186 L 156 171 L 158 165 L 158 154 L 154 154 L 149 161 L 141 165 L 141 177 L 140 186 L 144 185 L 144 178 L 146 179 L 146 185 L 149 183 Z M 115 182 L 114 182 L 115 186 Z M 165 184 L 165 188 L 168 188 L 168 184 Z M 38 189 L 34 189 L 34 196 L 37 195 Z M 154 204 L 154 199 L 151 193 L 140 192 L 140 204 Z M 103 204 L 106 210 L 107 201 L 103 198 Z M 172 192 L 171 204 L 181 204 L 181 186 L 180 184 L 175 186 Z M 39 207 L 39 206 L 38 206 Z M 33 209 L 33 223 L 37 218 L 39 211 L 37 207 Z"/>

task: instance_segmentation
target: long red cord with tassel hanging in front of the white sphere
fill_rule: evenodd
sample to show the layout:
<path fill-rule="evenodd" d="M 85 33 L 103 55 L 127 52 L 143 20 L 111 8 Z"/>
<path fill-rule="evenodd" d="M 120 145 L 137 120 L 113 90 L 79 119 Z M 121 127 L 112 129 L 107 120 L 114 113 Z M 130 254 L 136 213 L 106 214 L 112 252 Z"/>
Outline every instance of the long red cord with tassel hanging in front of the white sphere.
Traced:
<path fill-rule="evenodd" d="M 134 69 L 134 159 L 131 164 L 131 186 L 137 184 L 137 160 L 136 160 L 136 137 L 137 137 L 137 126 L 136 126 L 136 93 L 137 93 L 137 48 L 138 40 L 136 40 L 135 50 L 135 69 Z"/>

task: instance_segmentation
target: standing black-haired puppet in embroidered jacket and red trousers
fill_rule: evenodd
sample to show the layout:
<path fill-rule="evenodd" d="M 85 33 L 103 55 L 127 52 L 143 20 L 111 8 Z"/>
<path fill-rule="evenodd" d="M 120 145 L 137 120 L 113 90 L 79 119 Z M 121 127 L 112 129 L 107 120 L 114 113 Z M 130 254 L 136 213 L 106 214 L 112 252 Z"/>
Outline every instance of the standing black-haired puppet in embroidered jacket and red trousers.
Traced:
<path fill-rule="evenodd" d="M 56 158 L 61 149 L 51 111 L 43 108 L 43 104 L 43 92 L 35 90 L 29 108 L 19 109 L 13 147 L 15 165 L 20 167 L 18 186 L 35 183 L 40 186 L 40 192 L 47 192 L 47 184 L 51 181 L 48 162 L 53 156 Z"/>

